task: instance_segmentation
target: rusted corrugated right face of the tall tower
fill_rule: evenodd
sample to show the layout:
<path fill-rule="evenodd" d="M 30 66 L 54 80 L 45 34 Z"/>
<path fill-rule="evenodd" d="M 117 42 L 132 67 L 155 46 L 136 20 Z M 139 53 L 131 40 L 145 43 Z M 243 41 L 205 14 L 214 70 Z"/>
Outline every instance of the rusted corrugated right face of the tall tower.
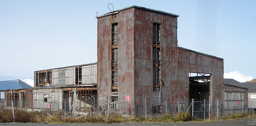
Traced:
<path fill-rule="evenodd" d="M 135 106 L 144 105 L 145 97 L 148 96 L 146 102 L 148 113 L 153 113 L 153 22 L 161 24 L 161 80 L 164 84 L 164 87 L 161 87 L 161 103 L 165 100 L 166 103 L 172 103 L 171 100 L 176 94 L 171 92 L 176 92 L 175 85 L 173 85 L 176 83 L 173 82 L 176 82 L 174 77 L 176 77 L 177 69 L 175 63 L 177 16 L 138 8 L 135 11 Z M 165 110 L 164 108 L 162 107 L 162 111 Z"/>

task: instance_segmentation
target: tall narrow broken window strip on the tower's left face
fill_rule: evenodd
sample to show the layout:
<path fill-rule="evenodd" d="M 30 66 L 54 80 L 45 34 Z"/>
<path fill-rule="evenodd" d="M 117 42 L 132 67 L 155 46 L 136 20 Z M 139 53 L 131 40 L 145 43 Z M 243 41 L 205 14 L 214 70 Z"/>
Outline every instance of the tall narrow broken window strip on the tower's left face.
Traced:
<path fill-rule="evenodd" d="M 112 24 L 112 60 L 111 60 L 111 90 L 117 92 L 118 88 L 118 23 Z"/>

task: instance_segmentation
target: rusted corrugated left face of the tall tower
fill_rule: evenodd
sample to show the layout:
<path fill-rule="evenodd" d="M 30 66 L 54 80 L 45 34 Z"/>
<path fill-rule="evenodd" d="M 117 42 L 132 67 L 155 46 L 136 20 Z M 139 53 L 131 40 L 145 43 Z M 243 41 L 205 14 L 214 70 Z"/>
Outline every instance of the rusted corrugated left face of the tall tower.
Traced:
<path fill-rule="evenodd" d="M 98 17 L 98 97 L 111 92 L 111 27 L 118 22 L 118 100 L 131 96 L 134 100 L 134 8 Z M 118 103 L 119 112 L 126 111 L 125 102 Z M 102 103 L 99 101 L 99 106 Z"/>

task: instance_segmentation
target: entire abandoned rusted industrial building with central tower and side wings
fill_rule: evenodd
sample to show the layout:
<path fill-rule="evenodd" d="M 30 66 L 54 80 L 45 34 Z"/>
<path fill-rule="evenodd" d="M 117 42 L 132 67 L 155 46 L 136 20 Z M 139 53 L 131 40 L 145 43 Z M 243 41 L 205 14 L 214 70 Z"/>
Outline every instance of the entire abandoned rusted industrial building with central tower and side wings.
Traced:
<path fill-rule="evenodd" d="M 156 114 L 191 113 L 200 101 L 207 117 L 223 114 L 219 105 L 246 109 L 247 88 L 223 83 L 224 59 L 178 46 L 178 17 L 139 6 L 97 16 L 97 63 L 35 71 L 35 87 L 7 90 L 6 106 Z"/>

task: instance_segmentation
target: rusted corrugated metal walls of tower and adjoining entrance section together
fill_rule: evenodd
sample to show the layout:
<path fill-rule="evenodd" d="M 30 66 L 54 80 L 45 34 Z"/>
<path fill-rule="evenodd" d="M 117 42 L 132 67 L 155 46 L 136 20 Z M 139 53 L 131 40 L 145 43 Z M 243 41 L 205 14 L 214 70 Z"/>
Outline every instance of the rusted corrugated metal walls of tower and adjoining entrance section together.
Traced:
<path fill-rule="evenodd" d="M 189 72 L 211 74 L 210 99 L 222 100 L 223 59 L 177 47 L 178 15 L 128 7 L 97 17 L 98 19 L 98 97 L 111 92 L 111 24 L 118 22 L 118 77 L 119 100 L 131 95 L 132 114 L 153 113 L 153 22 L 161 24 L 161 103 L 189 105 Z M 120 102 L 119 112 L 125 112 Z M 99 101 L 99 105 L 100 101 Z M 140 109 L 140 110 L 139 110 Z M 167 112 L 177 112 L 170 110 Z M 140 111 L 140 112 L 138 112 Z M 162 107 L 162 113 L 166 112 Z"/>

